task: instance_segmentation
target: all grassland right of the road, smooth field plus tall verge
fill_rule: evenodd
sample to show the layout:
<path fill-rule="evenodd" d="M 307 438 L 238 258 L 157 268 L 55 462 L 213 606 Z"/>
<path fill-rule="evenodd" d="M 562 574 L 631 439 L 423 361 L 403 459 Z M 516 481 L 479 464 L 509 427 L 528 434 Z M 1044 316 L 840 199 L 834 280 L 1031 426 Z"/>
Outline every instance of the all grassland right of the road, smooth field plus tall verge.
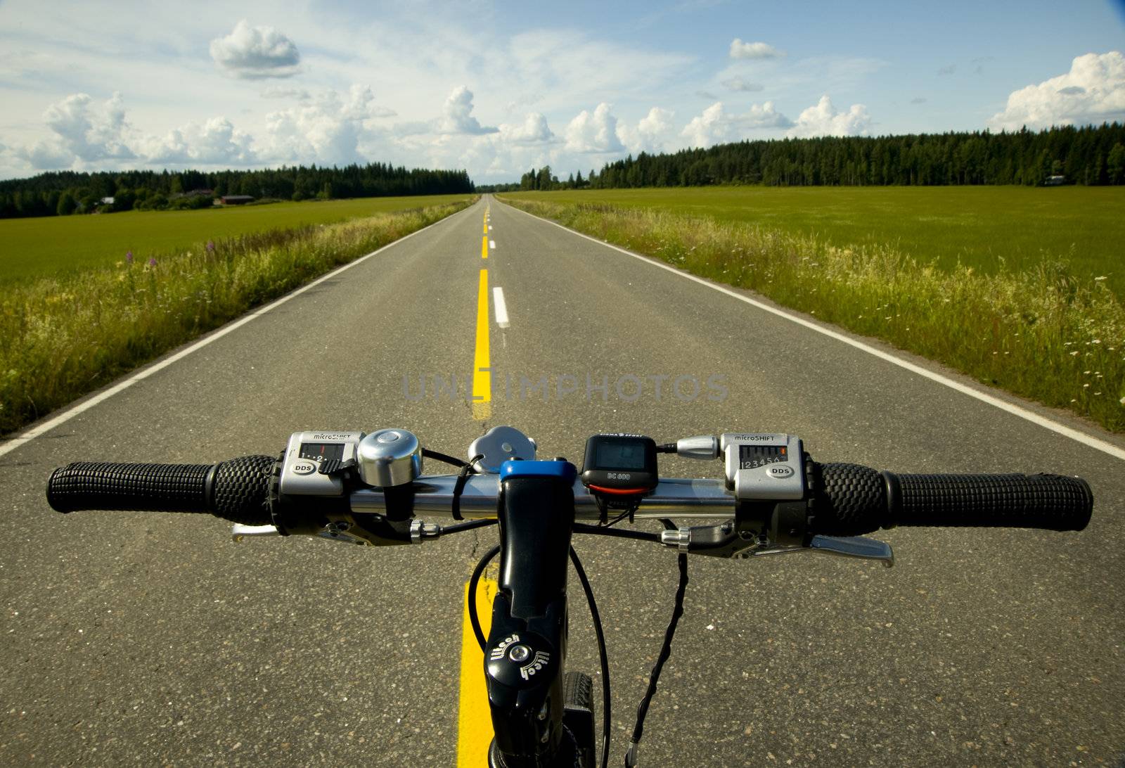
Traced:
<path fill-rule="evenodd" d="M 997 188 L 922 189 L 922 194 L 910 188 L 777 191 L 772 196 L 774 190 L 639 190 L 621 193 L 630 202 L 624 205 L 610 204 L 616 193 L 602 191 L 501 198 L 1125 432 L 1125 303 L 1108 287 L 1122 259 L 1123 225 L 1119 217 L 1108 215 L 1107 203 L 1125 202 L 1125 190 L 1108 190 L 1114 195 L 1097 189 Z M 1054 198 L 1056 223 L 1044 226 L 1043 216 L 1032 213 L 1042 208 L 1030 202 L 1044 199 L 1036 194 L 1054 193 L 1062 193 Z M 832 200 L 834 195 L 844 197 Z M 896 195 L 901 195 L 897 212 Z M 834 232 L 801 231 L 796 223 L 804 215 L 801 200 L 845 206 L 847 198 L 864 199 L 868 211 L 882 211 L 870 220 L 864 215 L 867 229 L 850 230 L 867 232 L 867 241 L 849 243 Z M 646 199 L 652 205 L 642 205 Z M 677 202 L 687 205 L 684 199 L 691 205 L 710 199 L 719 212 L 729 213 L 675 209 Z M 962 251 L 958 264 L 952 238 L 943 240 L 944 232 L 958 230 L 927 223 L 930 218 L 922 212 L 938 207 L 924 205 L 927 199 L 944 199 L 947 205 L 960 199 L 954 207 L 965 208 L 960 215 L 962 229 L 981 241 L 991 238 L 989 248 Z M 755 200 L 757 205 L 749 204 Z M 764 208 L 772 211 L 772 222 L 756 213 Z M 845 208 L 837 215 L 852 222 L 861 217 L 848 217 Z M 876 221 L 882 229 L 874 226 Z M 909 233 L 915 226 L 919 232 L 910 242 L 925 248 L 925 254 L 908 250 L 906 235 L 891 234 Z M 1027 236 L 1022 230 L 1040 234 Z M 1091 233 L 1088 242 L 1097 242 L 1101 250 L 1084 253 L 1080 266 L 1077 258 L 1066 264 L 1053 256 L 1078 231 Z M 878 240 L 878 232 L 885 239 Z M 1002 250 L 1010 241 L 1054 245 L 1044 245 L 1037 259 L 1025 249 L 1017 260 Z M 952 265 L 939 260 L 943 249 Z"/>

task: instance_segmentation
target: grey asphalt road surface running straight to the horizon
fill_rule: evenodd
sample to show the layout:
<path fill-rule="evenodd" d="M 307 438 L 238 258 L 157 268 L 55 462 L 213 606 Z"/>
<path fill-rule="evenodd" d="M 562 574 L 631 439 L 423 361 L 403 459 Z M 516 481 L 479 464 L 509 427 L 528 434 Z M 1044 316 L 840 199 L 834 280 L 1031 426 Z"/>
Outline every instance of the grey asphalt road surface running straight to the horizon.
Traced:
<path fill-rule="evenodd" d="M 502 329 L 490 315 L 484 421 L 432 386 L 456 375 L 464 395 L 482 267 L 511 318 Z M 521 390 L 543 376 L 547 389 Z M 378 551 L 235 545 L 206 516 L 63 517 L 43 489 L 71 461 L 213 462 L 278 452 L 304 429 L 405 427 L 462 454 L 498 423 L 575 461 L 596 431 L 788 431 L 819 461 L 1081 474 L 1094 489 L 1083 533 L 882 532 L 894 569 L 693 559 L 642 765 L 1068 766 L 1125 752 L 1119 458 L 485 198 L 0 457 L 0 763 L 453 763 L 461 590 L 494 533 Z M 606 624 L 620 765 L 675 555 L 576 545 Z M 576 604 L 570 664 L 594 670 L 584 617 Z"/>

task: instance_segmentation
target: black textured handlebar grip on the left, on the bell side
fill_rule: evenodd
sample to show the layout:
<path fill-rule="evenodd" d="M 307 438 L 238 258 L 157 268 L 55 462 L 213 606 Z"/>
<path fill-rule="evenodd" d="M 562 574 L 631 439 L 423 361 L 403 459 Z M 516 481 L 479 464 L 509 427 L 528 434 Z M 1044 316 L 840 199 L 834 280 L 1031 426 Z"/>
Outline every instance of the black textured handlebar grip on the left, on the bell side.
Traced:
<path fill-rule="evenodd" d="M 60 512 L 210 512 L 232 523 L 266 525 L 276 461 L 240 456 L 212 465 L 78 462 L 51 473 L 47 503 Z"/>

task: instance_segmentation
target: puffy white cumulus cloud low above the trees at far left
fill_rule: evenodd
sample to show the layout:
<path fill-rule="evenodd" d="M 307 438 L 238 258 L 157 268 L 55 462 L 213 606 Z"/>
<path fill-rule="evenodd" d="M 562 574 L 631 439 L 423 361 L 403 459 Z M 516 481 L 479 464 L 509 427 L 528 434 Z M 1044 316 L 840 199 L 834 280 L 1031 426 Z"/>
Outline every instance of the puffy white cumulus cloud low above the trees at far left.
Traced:
<path fill-rule="evenodd" d="M 88 93 L 72 93 L 47 107 L 43 122 L 54 135 L 16 150 L 33 168 L 70 168 L 76 162 L 136 158 L 126 143 L 129 126 L 119 92 L 100 106 Z"/>

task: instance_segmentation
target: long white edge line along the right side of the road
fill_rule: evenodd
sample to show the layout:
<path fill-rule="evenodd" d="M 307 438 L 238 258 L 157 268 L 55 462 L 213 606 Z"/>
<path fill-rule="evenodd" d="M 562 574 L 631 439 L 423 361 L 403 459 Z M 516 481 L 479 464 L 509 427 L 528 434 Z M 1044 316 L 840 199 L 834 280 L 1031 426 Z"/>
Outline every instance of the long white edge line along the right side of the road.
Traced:
<path fill-rule="evenodd" d="M 507 204 L 504 203 L 504 205 L 507 205 Z M 1120 458 L 1120 459 L 1125 461 L 1125 449 L 1118 448 L 1117 446 L 1113 445 L 1112 443 L 1106 443 L 1105 440 L 1101 440 L 1101 439 L 1099 439 L 1097 437 L 1094 437 L 1092 435 L 1087 435 L 1086 432 L 1079 431 L 1077 429 L 1072 429 L 1071 427 L 1066 427 L 1065 425 L 1061 425 L 1058 421 L 1054 421 L 1054 420 L 1048 419 L 1046 417 L 1040 416 L 1038 413 L 1035 413 L 1033 411 L 1028 411 L 1026 408 L 1020 408 L 1019 405 L 1015 405 L 1015 404 L 1009 403 L 1007 401 L 1000 400 L 999 398 L 994 398 L 994 396 L 992 396 L 992 395 L 990 395 L 990 394 L 988 394 L 986 392 L 980 392 L 979 390 L 974 390 L 974 389 L 972 389 L 970 386 L 965 386 L 961 382 L 955 382 L 955 381 L 953 381 L 952 378 L 950 378 L 947 376 L 943 376 L 942 374 L 934 373 L 933 370 L 927 370 L 926 368 L 922 368 L 921 366 L 915 365 L 914 363 L 910 363 L 908 360 L 903 360 L 900 357 L 896 357 L 894 355 L 885 352 L 882 349 L 876 349 L 876 348 L 874 348 L 874 347 L 872 347 L 870 345 L 866 345 L 866 343 L 864 343 L 862 341 L 857 341 L 855 339 L 852 339 L 852 338 L 849 338 L 847 336 L 844 336 L 843 333 L 839 333 L 839 332 L 834 331 L 831 329 L 824 328 L 822 325 L 818 325 L 817 323 L 810 322 L 810 321 L 806 320 L 804 318 L 800 318 L 800 316 L 798 316 L 795 314 L 791 314 L 791 313 L 786 312 L 785 310 L 778 310 L 775 306 L 770 306 L 768 304 L 763 304 L 762 302 L 755 301 L 755 300 L 750 298 L 749 296 L 744 296 L 744 295 L 737 293 L 736 291 L 734 291 L 731 288 L 728 288 L 726 286 L 717 285 L 714 283 L 711 283 L 709 280 L 703 279 L 702 277 L 696 277 L 695 275 L 690 275 L 690 274 L 687 274 L 687 273 L 685 273 L 685 271 L 683 271 L 681 269 L 676 269 L 675 267 L 672 267 L 669 265 L 662 264 L 662 262 L 659 262 L 659 261 L 657 261 L 657 260 L 655 260 L 655 259 L 652 259 L 650 257 L 641 256 L 640 253 L 633 253 L 632 251 L 627 251 L 623 248 L 618 248 L 616 245 L 613 245 L 613 244 L 610 244 L 610 243 L 604 242 L 602 240 L 598 240 L 597 238 L 592 238 L 588 234 L 583 234 L 582 232 L 577 232 L 575 230 L 572 230 L 568 226 L 562 226 L 561 224 L 559 224 L 557 222 L 548 221 L 547 218 L 541 218 L 540 216 L 536 216 L 534 214 L 530 214 L 526 211 L 521 211 L 520 208 L 516 208 L 514 205 L 507 205 L 507 207 L 513 208 L 514 211 L 519 211 L 520 213 L 522 213 L 522 214 L 524 214 L 526 216 L 531 216 L 532 218 L 538 218 L 541 222 L 547 222 L 548 224 L 554 224 L 555 226 L 559 227 L 560 230 L 564 230 L 564 231 L 569 232 L 572 234 L 576 234 L 579 238 L 585 238 L 586 240 L 590 240 L 591 242 L 595 242 L 598 245 L 605 245 L 606 248 L 611 248 L 611 249 L 613 249 L 615 251 L 624 253 L 626 256 L 631 256 L 634 259 L 639 259 L 639 260 L 641 260 L 641 261 L 644 261 L 646 264 L 652 265 L 654 267 L 659 267 L 660 269 L 665 269 L 665 270 L 672 273 L 673 275 L 678 275 L 680 277 L 686 278 L 686 279 L 692 280 L 694 283 L 699 283 L 700 285 L 705 285 L 709 288 L 718 291 L 719 293 L 727 294 L 728 296 L 730 296 L 732 298 L 737 298 L 740 302 L 745 302 L 747 304 L 750 304 L 752 306 L 756 306 L 759 310 L 764 310 L 766 312 L 775 314 L 778 318 L 784 318 L 785 320 L 790 320 L 790 321 L 796 323 L 798 325 L 803 325 L 803 327 L 808 328 L 809 330 L 816 331 L 817 333 L 822 333 L 822 334 L 825 334 L 825 336 L 827 336 L 829 338 L 836 339 L 837 341 L 843 341 L 846 345 L 849 345 L 852 347 L 855 347 L 856 349 L 865 351 L 868 355 L 874 355 L 875 357 L 878 357 L 878 358 L 880 358 L 882 360 L 886 360 L 888 363 L 891 363 L 893 365 L 897 365 L 900 368 L 906 368 L 907 370 L 909 370 L 911 373 L 916 373 L 919 376 L 924 376 L 924 377 L 926 377 L 926 378 L 928 378 L 928 379 L 930 379 L 933 382 L 937 382 L 938 384 L 943 384 L 943 385 L 950 387 L 951 390 L 956 390 L 957 392 L 960 392 L 962 394 L 966 394 L 970 398 L 975 398 L 976 400 L 981 401 L 982 403 L 988 403 L 989 405 L 998 408 L 1001 411 L 1006 411 L 1008 413 L 1011 413 L 1012 416 L 1017 416 L 1020 419 L 1024 419 L 1025 421 L 1030 421 L 1032 423 L 1038 425 L 1040 427 L 1043 427 L 1044 429 L 1048 429 L 1052 432 L 1055 432 L 1058 435 L 1062 435 L 1063 437 L 1069 437 L 1070 439 L 1074 440 L 1076 443 L 1081 443 L 1082 445 L 1089 446 L 1090 448 L 1094 448 L 1095 450 L 1100 450 L 1104 454 L 1108 454 L 1108 455 L 1110 455 L 1110 456 L 1113 456 L 1115 458 Z"/>

